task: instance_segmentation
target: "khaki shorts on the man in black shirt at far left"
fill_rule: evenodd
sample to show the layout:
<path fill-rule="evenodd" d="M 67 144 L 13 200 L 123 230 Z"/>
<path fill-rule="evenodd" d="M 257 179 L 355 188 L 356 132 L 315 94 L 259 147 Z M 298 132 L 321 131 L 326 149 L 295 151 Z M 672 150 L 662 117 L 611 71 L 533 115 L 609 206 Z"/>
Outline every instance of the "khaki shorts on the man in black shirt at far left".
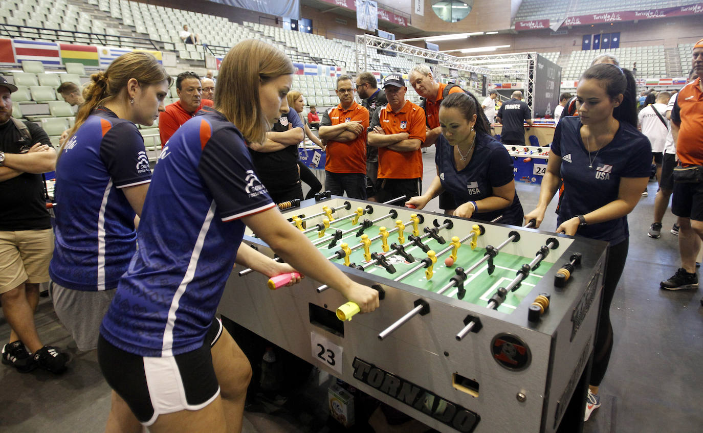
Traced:
<path fill-rule="evenodd" d="M 49 281 L 53 231 L 0 231 L 0 294 L 22 283 Z"/>

